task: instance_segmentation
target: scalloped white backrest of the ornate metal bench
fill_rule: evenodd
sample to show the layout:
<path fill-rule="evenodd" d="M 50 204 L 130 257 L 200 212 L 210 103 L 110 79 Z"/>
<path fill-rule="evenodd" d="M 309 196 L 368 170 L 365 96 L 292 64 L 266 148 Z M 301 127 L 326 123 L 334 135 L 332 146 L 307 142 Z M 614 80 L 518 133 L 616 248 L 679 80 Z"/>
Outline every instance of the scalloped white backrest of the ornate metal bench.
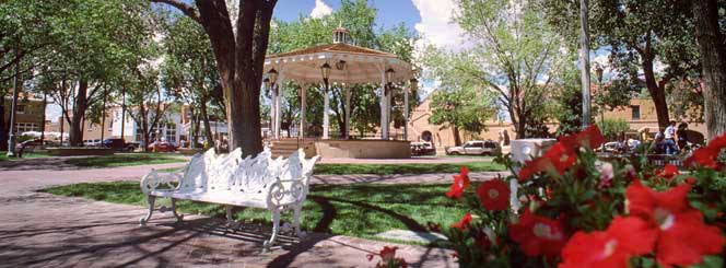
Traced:
<path fill-rule="evenodd" d="M 239 149 L 222 155 L 216 155 L 214 150 L 210 149 L 191 159 L 185 168 L 179 189 L 266 195 L 268 187 L 278 179 L 301 179 L 307 186 L 318 159 L 319 156 L 315 156 L 306 160 L 302 149 L 288 159 L 272 159 L 269 150 L 255 158 L 249 155 L 243 159 Z"/>

